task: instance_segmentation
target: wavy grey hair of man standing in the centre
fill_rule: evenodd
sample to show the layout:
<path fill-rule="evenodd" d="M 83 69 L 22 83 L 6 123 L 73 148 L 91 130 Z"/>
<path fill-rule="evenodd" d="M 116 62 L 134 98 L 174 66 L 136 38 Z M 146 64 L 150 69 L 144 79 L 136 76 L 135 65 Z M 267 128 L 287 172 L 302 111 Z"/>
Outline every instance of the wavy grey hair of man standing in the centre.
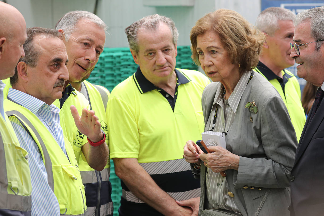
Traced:
<path fill-rule="evenodd" d="M 169 27 L 172 33 L 172 42 L 176 45 L 179 37 L 178 29 L 176 28 L 173 20 L 170 17 L 161 16 L 158 14 L 150 15 L 143 17 L 136 22 L 133 22 L 132 25 L 125 28 L 125 33 L 127 35 L 127 40 L 129 48 L 138 53 L 138 41 L 137 41 L 137 32 L 140 28 L 145 28 L 149 30 L 156 30 L 160 23 L 165 23 Z"/>

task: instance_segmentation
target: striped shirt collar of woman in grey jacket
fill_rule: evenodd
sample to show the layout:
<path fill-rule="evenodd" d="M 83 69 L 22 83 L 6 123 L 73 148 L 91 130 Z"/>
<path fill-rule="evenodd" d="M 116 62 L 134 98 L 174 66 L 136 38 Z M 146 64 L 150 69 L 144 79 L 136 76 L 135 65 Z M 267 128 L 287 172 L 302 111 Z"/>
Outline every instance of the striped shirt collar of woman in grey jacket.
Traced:
<path fill-rule="evenodd" d="M 228 98 L 228 104 L 231 107 L 231 109 L 233 110 L 233 112 L 236 113 L 238 104 L 241 100 L 241 97 L 243 95 L 243 91 L 245 90 L 247 83 L 249 81 L 251 72 L 247 71 L 244 72 L 241 76 L 241 78 L 239 79 L 238 83 L 236 84 L 234 91 L 232 92 L 231 96 Z M 214 99 L 214 104 L 215 103 L 223 103 L 223 85 L 219 85 L 216 91 L 216 96 L 218 95 L 218 97 L 215 97 Z M 226 105 L 224 105 L 226 106 Z"/>

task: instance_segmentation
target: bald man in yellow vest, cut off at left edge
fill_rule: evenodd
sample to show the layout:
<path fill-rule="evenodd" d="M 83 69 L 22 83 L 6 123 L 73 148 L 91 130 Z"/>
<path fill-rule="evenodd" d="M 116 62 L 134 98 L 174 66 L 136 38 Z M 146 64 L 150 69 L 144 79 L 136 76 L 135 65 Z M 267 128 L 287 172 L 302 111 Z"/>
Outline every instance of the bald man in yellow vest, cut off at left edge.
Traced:
<path fill-rule="evenodd" d="M 23 44 L 26 22 L 13 6 L 0 2 L 0 215 L 30 215 L 31 182 L 28 153 L 20 147 L 11 123 L 4 113 L 4 83 L 15 73 Z"/>

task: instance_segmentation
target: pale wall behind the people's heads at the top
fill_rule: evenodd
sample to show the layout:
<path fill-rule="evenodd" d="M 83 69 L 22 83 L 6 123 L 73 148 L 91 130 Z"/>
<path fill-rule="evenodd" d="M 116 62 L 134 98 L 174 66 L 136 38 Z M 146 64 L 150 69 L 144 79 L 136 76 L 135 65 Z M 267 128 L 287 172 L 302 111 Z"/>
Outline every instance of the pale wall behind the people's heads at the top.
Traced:
<path fill-rule="evenodd" d="M 164 1 L 164 0 L 161 0 Z M 177 0 L 174 0 L 177 1 Z M 182 0 L 183 1 L 183 0 Z M 94 12 L 95 0 L 7 0 L 25 17 L 27 27 L 54 28 L 68 11 Z M 150 14 L 171 17 L 179 30 L 178 45 L 190 45 L 189 32 L 200 17 L 218 8 L 242 14 L 254 24 L 260 13 L 260 0 L 194 0 L 194 6 L 145 6 L 143 0 L 99 0 L 97 15 L 109 27 L 105 47 L 126 47 L 124 29 L 132 22 Z"/>

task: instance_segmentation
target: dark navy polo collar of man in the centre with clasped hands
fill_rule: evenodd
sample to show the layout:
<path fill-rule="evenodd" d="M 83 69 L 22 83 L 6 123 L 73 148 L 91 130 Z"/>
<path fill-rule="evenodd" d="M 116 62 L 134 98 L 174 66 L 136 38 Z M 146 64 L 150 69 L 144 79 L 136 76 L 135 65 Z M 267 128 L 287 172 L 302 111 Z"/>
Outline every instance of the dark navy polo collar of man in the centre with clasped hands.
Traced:
<path fill-rule="evenodd" d="M 185 76 L 177 69 L 174 69 L 174 71 L 177 75 L 177 81 L 179 84 L 185 84 L 191 81 L 189 77 Z M 148 79 L 146 79 L 146 77 L 143 75 L 140 67 L 138 67 L 136 72 L 133 74 L 133 79 L 141 94 L 156 89 L 156 86 L 150 81 L 148 81 Z"/>

